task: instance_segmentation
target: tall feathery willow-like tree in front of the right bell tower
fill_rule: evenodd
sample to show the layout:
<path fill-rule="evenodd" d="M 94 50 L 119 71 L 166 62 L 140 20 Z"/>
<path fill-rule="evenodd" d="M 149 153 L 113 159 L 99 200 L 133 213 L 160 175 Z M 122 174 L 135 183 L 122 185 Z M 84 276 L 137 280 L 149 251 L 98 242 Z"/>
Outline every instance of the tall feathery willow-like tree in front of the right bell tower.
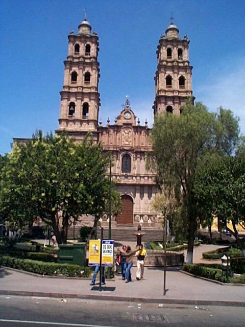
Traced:
<path fill-rule="evenodd" d="M 210 113 L 206 106 L 186 102 L 180 115 L 159 114 L 152 129 L 153 152 L 148 166 L 156 171 L 159 188 L 175 190 L 181 205 L 179 219 L 188 228 L 187 263 L 192 263 L 198 212 L 193 183 L 198 167 L 212 153 L 234 151 L 239 137 L 238 120 L 230 110 Z"/>

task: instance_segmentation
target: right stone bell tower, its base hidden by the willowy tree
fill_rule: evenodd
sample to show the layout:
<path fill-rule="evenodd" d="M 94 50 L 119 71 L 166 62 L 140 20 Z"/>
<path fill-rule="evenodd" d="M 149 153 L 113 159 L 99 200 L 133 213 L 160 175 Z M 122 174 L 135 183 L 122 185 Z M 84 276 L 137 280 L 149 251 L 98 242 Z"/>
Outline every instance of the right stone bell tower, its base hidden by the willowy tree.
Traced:
<path fill-rule="evenodd" d="M 171 24 L 161 35 L 157 46 L 154 116 L 159 112 L 181 113 L 185 100 L 192 97 L 191 70 L 188 60 L 189 40 L 179 37 L 179 30 Z"/>

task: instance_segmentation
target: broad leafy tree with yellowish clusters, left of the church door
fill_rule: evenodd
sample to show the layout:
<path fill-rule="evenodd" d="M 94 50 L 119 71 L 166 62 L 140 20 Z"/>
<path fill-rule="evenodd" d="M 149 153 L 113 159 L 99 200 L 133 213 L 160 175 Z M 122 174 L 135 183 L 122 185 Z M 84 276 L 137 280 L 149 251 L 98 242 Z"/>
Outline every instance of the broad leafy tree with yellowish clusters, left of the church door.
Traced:
<path fill-rule="evenodd" d="M 65 243 L 69 218 L 101 215 L 108 198 L 109 157 L 88 135 L 75 143 L 66 135 L 37 132 L 15 144 L 2 170 L 0 208 L 22 226 L 40 217 Z"/>

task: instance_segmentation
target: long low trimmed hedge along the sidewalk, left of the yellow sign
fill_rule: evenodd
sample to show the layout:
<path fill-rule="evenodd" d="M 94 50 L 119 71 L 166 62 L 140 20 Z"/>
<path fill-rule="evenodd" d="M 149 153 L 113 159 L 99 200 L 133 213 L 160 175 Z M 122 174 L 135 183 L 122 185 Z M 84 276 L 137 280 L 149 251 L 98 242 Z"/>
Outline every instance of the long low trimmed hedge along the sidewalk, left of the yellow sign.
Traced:
<path fill-rule="evenodd" d="M 41 261 L 14 258 L 8 255 L 0 256 L 0 265 L 50 276 L 90 277 L 91 274 L 91 268 L 89 267 L 53 262 L 44 263 Z"/>

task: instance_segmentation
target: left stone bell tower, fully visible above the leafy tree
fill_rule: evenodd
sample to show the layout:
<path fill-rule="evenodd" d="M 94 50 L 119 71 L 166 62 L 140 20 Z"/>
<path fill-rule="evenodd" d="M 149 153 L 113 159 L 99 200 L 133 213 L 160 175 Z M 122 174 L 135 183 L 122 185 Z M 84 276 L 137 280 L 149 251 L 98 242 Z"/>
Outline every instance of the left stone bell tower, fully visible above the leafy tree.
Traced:
<path fill-rule="evenodd" d="M 100 107 L 98 52 L 97 34 L 91 35 L 91 26 L 84 19 L 78 34 L 71 31 L 68 35 L 58 133 L 65 130 L 69 136 L 80 138 L 80 132 L 84 134 L 97 129 Z"/>

